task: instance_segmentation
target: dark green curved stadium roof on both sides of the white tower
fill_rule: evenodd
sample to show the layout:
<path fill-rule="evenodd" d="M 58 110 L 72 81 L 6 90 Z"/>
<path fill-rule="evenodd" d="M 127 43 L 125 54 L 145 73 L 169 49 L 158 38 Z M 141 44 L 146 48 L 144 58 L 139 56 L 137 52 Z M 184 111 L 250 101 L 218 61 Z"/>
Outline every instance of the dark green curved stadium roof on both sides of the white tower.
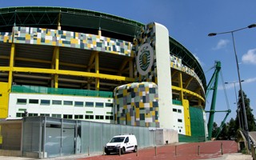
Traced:
<path fill-rule="evenodd" d="M 98 34 L 104 30 L 103 36 L 133 41 L 134 36 L 144 24 L 130 19 L 91 10 L 65 7 L 22 6 L 0 8 L 0 32 L 11 32 L 13 26 L 34 26 L 70 30 L 87 34 Z M 198 60 L 194 58 L 181 43 L 170 39 L 170 54 L 182 58 L 182 63 L 194 69 L 206 90 L 206 77 Z"/>

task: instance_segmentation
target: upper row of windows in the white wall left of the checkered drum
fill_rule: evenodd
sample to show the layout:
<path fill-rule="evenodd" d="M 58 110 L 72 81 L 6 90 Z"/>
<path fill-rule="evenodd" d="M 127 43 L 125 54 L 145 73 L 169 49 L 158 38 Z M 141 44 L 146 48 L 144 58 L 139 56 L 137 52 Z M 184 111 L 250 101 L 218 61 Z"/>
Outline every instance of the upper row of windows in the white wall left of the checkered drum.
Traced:
<path fill-rule="evenodd" d="M 42 106 L 50 106 L 51 105 L 64 105 L 64 106 L 89 106 L 89 107 L 104 107 L 104 102 L 82 102 L 82 101 L 62 101 L 62 100 L 48 100 L 48 99 L 26 99 L 26 98 L 18 98 L 17 104 L 26 105 L 29 104 L 40 104 Z M 105 102 L 106 107 L 113 107 L 113 103 Z"/>

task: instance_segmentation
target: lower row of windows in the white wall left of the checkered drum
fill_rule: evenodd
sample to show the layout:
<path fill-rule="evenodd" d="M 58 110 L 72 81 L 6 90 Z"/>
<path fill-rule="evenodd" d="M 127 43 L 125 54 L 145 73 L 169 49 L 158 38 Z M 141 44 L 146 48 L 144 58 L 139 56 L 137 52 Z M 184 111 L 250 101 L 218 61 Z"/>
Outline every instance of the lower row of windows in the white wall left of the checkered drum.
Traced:
<path fill-rule="evenodd" d="M 33 114 L 33 113 L 30 113 L 30 114 L 27 114 L 27 116 L 29 117 L 32 117 L 32 116 L 48 116 L 50 117 L 50 114 Z M 22 117 L 26 117 L 26 114 L 24 113 L 16 113 L 16 117 L 17 118 L 22 118 Z M 53 118 L 62 118 L 62 114 L 51 114 L 51 117 Z M 114 120 L 114 116 L 113 115 L 105 115 L 105 118 L 104 118 L 104 115 L 89 115 L 89 114 L 74 114 L 74 116 L 72 114 L 63 114 L 63 118 L 66 118 L 66 119 L 105 119 L 105 120 Z"/>

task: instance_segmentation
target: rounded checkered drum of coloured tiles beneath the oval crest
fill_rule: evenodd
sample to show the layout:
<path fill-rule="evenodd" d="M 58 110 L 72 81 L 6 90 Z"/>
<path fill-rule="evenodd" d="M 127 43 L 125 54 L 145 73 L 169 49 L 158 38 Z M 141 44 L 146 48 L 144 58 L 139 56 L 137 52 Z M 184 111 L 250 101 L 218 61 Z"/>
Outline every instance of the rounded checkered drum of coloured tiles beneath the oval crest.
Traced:
<path fill-rule="evenodd" d="M 158 86 L 134 82 L 114 89 L 116 123 L 130 126 L 157 126 Z"/>

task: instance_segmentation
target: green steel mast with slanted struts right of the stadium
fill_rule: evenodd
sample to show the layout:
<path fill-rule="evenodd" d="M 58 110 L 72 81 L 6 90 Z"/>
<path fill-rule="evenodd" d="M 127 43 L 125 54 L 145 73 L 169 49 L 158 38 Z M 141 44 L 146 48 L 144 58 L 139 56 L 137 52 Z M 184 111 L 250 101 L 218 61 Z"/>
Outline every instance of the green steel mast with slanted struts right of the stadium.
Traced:
<path fill-rule="evenodd" d="M 210 93 L 210 90 L 213 90 L 213 97 L 212 97 L 212 101 L 211 101 L 210 111 L 206 111 L 206 112 L 210 113 L 208 124 L 207 124 L 207 127 L 208 127 L 208 140 L 210 140 L 212 138 L 212 130 L 213 130 L 214 114 L 215 114 L 215 112 L 226 112 L 226 117 L 223 119 L 222 124 L 219 127 L 218 133 L 214 136 L 214 138 L 217 138 L 218 134 L 222 131 L 222 126 L 225 124 L 226 118 L 227 118 L 227 116 L 231 112 L 230 109 L 229 110 L 219 110 L 219 111 L 215 110 L 217 91 L 218 91 L 218 76 L 219 76 L 219 73 L 221 71 L 221 68 L 222 68 L 221 62 L 218 62 L 218 61 L 215 62 L 214 74 L 210 78 L 210 82 L 209 82 L 209 84 L 208 84 L 208 86 L 206 88 L 206 98 L 207 98 L 208 94 Z"/>

